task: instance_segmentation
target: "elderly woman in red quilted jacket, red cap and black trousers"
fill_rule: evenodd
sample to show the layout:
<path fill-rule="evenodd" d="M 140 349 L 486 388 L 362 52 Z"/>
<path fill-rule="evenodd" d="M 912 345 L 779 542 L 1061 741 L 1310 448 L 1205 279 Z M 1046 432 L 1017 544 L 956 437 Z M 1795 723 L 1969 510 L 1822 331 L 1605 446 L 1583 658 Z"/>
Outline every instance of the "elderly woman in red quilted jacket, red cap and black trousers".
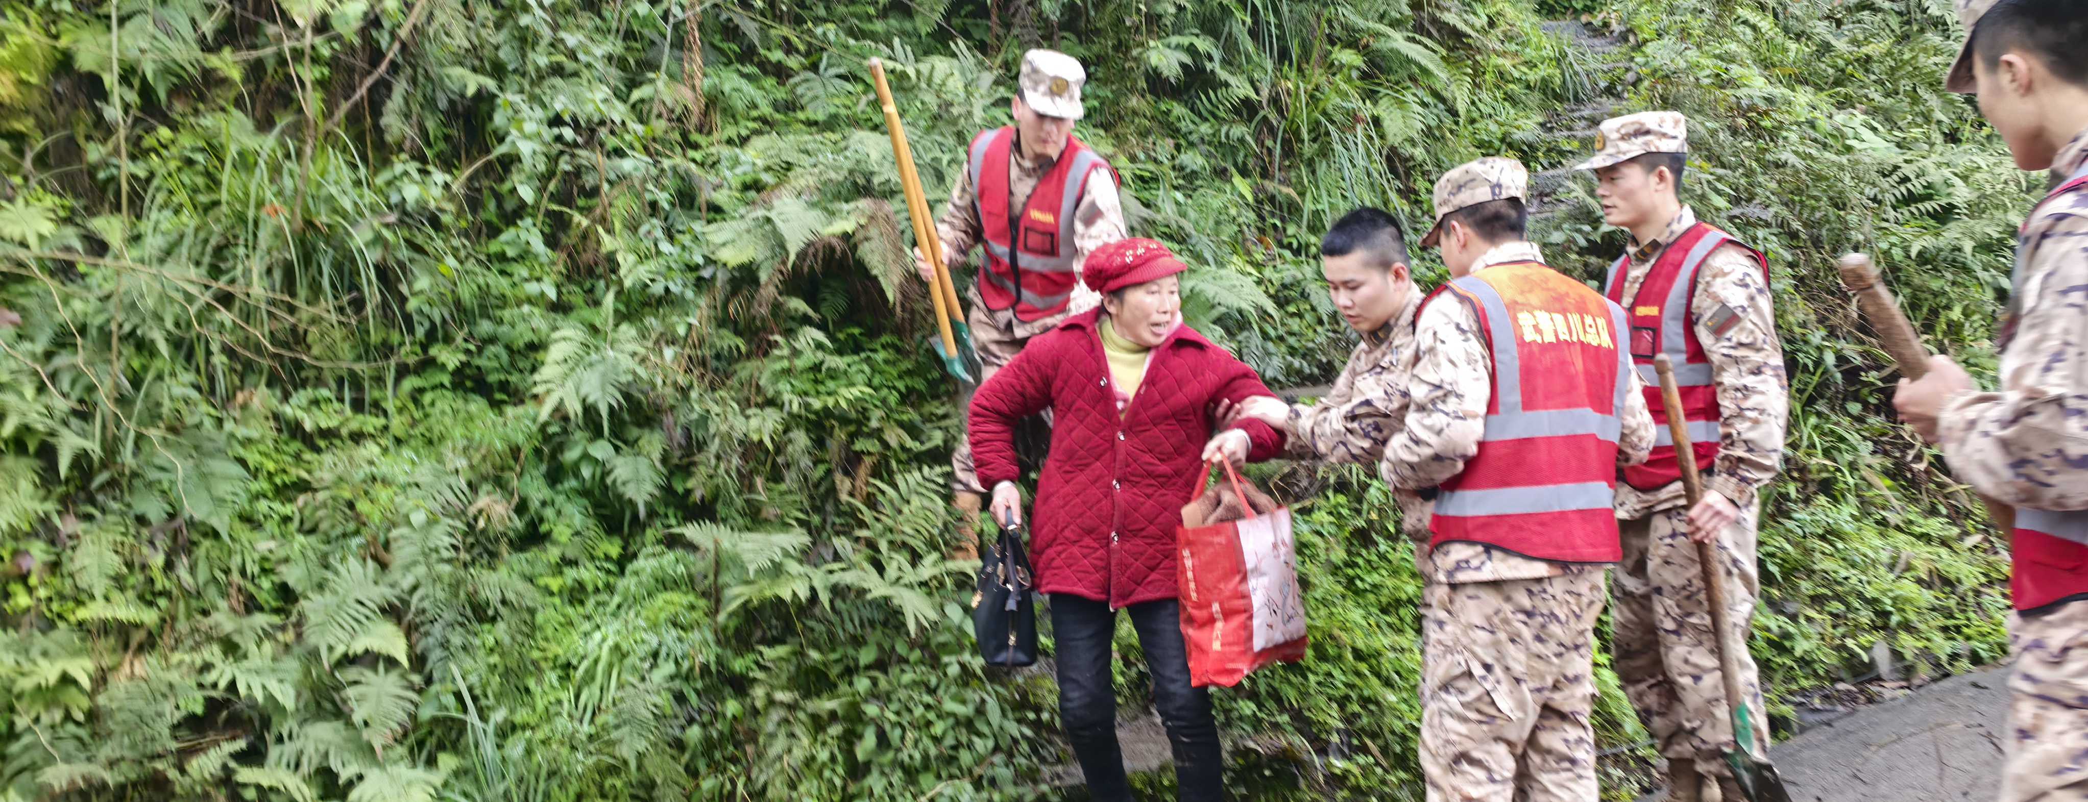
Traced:
<path fill-rule="evenodd" d="M 1182 324 L 1186 265 L 1155 240 L 1088 257 L 1102 307 L 1040 334 L 971 399 L 971 449 L 994 516 L 1021 518 L 1015 422 L 1052 409 L 1029 558 L 1050 597 L 1059 712 L 1096 800 L 1130 800 L 1117 748 L 1111 635 L 1117 610 L 1153 670 L 1182 800 L 1224 798 L 1211 698 L 1190 687 L 1176 606 L 1176 526 L 1207 459 L 1270 459 L 1282 437 L 1259 420 L 1219 430 L 1219 401 L 1274 395 L 1253 368 Z M 1215 437 L 1213 437 L 1215 432 Z"/>

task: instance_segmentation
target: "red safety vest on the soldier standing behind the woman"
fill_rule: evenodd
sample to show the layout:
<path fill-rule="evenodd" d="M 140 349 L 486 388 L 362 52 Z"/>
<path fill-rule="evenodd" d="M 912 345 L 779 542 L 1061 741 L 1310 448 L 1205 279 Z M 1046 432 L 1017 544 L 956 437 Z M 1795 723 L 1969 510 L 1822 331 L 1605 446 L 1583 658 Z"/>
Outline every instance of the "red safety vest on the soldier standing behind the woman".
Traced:
<path fill-rule="evenodd" d="M 1038 180 L 1023 203 L 1019 221 L 1011 215 L 1009 148 L 1015 127 L 979 132 L 971 138 L 971 186 L 986 234 L 979 263 L 979 297 L 988 309 L 1015 307 L 1023 322 L 1065 311 L 1079 280 L 1073 261 L 1073 209 L 1096 167 L 1115 180 L 1115 169 L 1077 136 L 1067 138 L 1052 169 Z M 1021 232 L 1015 236 L 1011 232 Z"/>

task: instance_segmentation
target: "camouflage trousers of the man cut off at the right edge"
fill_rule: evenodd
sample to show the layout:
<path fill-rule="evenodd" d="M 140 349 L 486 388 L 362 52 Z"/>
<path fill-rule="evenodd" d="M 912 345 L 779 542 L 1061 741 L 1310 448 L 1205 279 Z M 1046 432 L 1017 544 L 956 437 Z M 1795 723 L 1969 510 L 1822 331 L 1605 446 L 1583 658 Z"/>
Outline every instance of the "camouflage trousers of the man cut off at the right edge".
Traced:
<path fill-rule="evenodd" d="M 2000 802 L 2088 802 L 2088 602 L 2009 620 Z"/>

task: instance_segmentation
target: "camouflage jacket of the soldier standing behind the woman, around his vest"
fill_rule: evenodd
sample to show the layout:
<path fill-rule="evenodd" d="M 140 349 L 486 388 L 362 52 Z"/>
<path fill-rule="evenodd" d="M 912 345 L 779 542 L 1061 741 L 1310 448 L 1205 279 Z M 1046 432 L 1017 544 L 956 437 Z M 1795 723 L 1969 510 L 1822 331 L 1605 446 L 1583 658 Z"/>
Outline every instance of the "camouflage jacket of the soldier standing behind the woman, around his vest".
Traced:
<path fill-rule="evenodd" d="M 1038 188 L 1038 180 L 1044 178 L 1057 165 L 1059 159 L 1027 159 L 1021 148 L 1021 134 L 1017 142 L 1009 148 L 1009 207 L 1021 209 L 1029 200 L 1029 192 Z M 942 257 L 950 263 L 950 269 L 960 269 L 969 263 L 971 249 L 983 238 L 983 228 L 979 228 L 979 203 L 973 196 L 971 171 L 958 169 L 956 184 L 950 186 L 950 205 L 944 207 L 942 217 L 935 219 L 935 234 L 942 238 Z M 1123 223 L 1123 198 L 1117 194 L 1117 182 L 1086 182 L 1079 194 L 1079 207 L 1073 209 L 1073 272 L 1088 261 L 1094 249 L 1130 236 L 1130 228 Z M 969 297 L 973 309 L 983 309 L 979 301 L 979 288 L 973 286 Z M 1102 303 L 1102 297 L 1088 288 L 1088 284 L 1073 282 L 1073 297 L 1067 301 L 1067 309 L 1061 315 L 1050 315 L 1034 322 L 1013 320 L 1013 334 L 1017 338 L 1029 338 L 1052 328 L 1059 328 L 1065 317 L 1077 315 L 1082 311 L 1094 309 Z"/>

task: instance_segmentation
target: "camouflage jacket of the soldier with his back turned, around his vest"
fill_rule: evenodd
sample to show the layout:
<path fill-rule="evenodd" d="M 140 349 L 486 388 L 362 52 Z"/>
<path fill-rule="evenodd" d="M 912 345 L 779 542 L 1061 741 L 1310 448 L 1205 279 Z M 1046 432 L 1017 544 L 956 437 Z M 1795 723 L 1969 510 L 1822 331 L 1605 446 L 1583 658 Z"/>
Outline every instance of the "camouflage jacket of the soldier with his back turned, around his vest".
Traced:
<path fill-rule="evenodd" d="M 1478 257 L 1474 272 L 1510 261 L 1543 261 L 1531 242 L 1510 242 Z M 1645 411 L 1645 393 L 1637 374 L 1631 378 L 1622 411 L 1622 432 L 1616 439 L 1618 466 L 1645 462 L 1654 449 L 1654 418 Z M 1487 432 L 1487 403 L 1493 401 L 1493 357 L 1480 334 L 1478 315 L 1462 303 L 1430 303 L 1416 328 L 1414 376 L 1407 426 L 1384 443 L 1378 472 L 1397 489 L 1428 489 L 1457 476 L 1464 462 L 1478 453 Z M 1543 579 L 1568 572 L 1601 570 L 1604 566 L 1560 564 L 1524 558 L 1485 543 L 1443 543 L 1422 558 L 1422 576 L 1432 583 L 1497 583 L 1510 579 Z"/>

